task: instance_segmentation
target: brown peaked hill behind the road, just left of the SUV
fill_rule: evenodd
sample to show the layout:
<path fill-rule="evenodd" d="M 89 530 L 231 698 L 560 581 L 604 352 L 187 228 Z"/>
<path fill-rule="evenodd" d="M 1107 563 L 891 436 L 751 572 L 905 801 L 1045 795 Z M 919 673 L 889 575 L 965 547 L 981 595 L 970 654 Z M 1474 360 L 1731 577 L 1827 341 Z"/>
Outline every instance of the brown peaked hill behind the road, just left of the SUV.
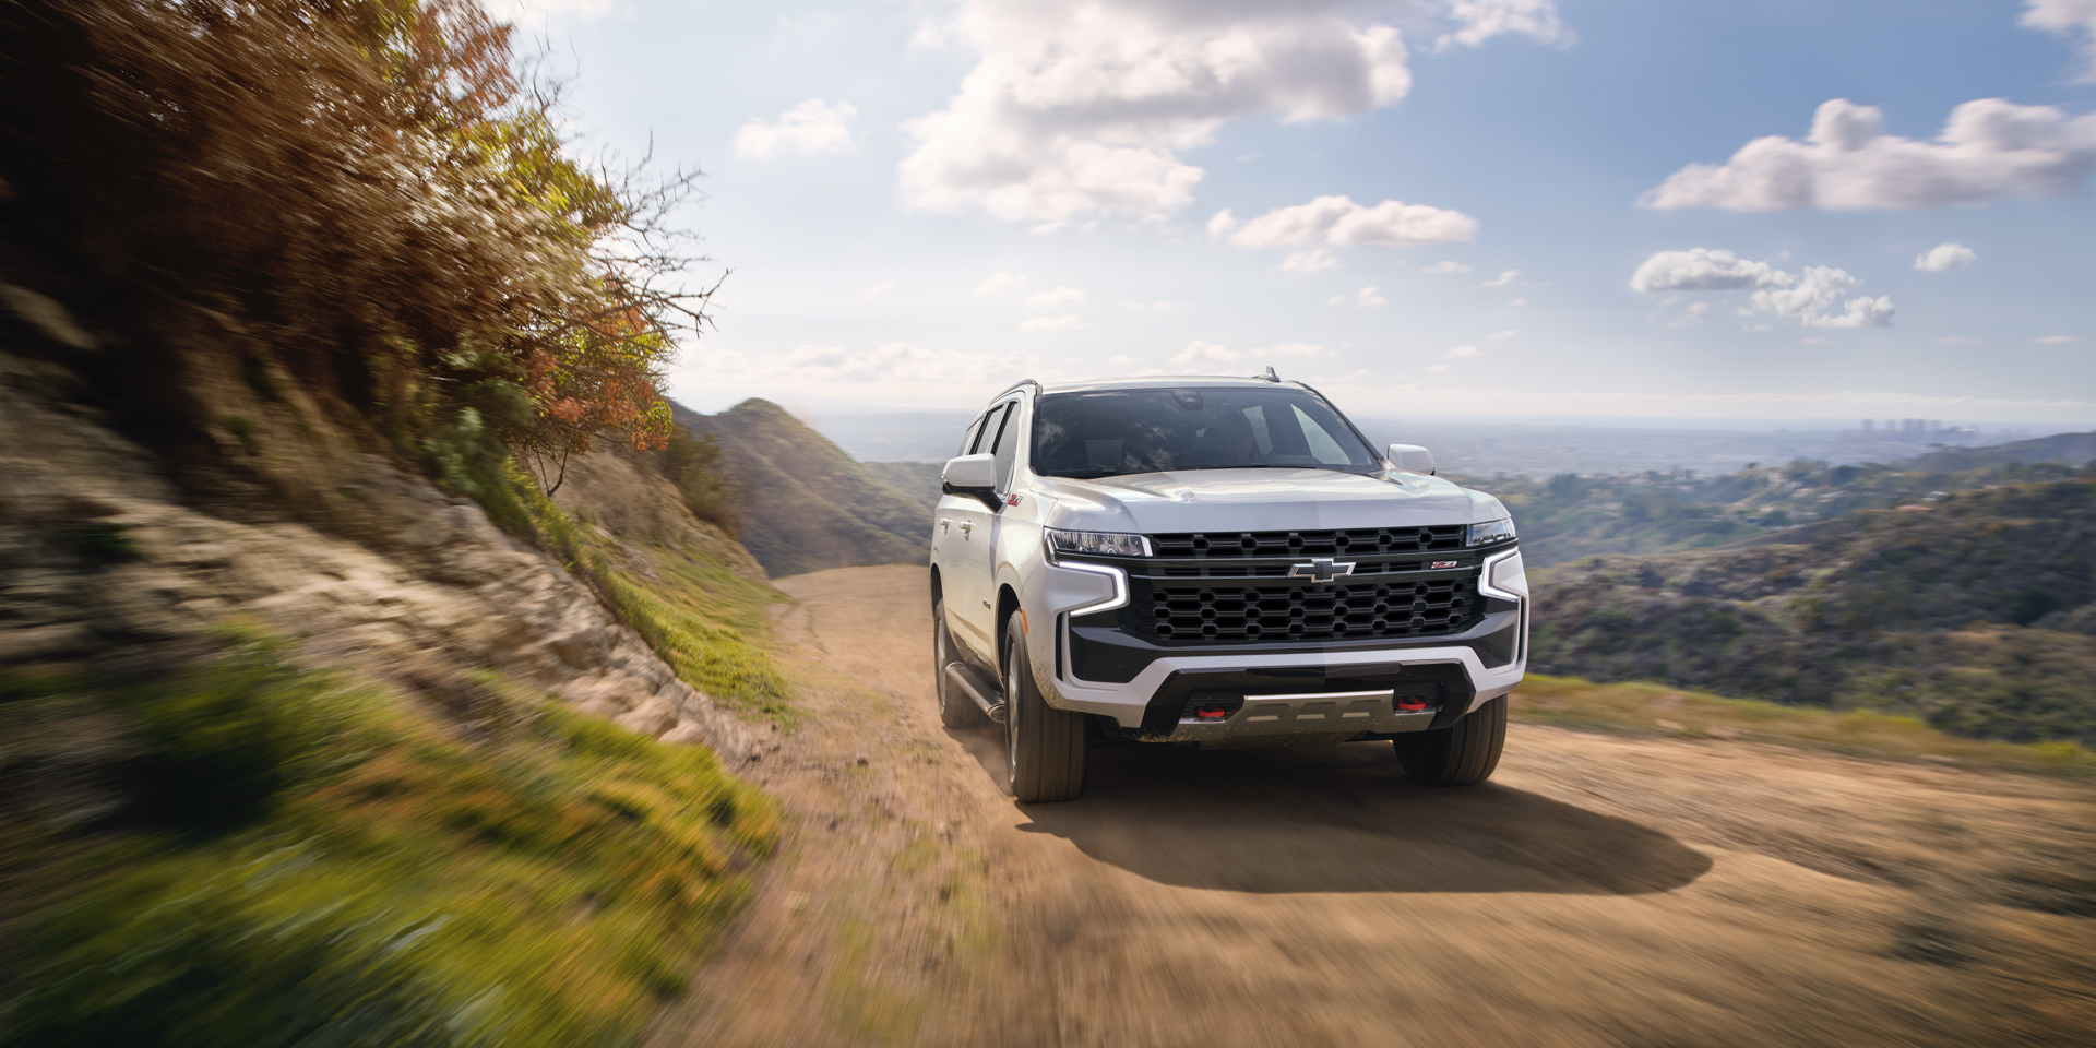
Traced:
<path fill-rule="evenodd" d="M 859 564 L 920 564 L 931 507 L 853 461 L 769 400 L 719 415 L 671 402 L 677 425 L 713 434 L 740 490 L 740 532 L 773 578 Z"/>

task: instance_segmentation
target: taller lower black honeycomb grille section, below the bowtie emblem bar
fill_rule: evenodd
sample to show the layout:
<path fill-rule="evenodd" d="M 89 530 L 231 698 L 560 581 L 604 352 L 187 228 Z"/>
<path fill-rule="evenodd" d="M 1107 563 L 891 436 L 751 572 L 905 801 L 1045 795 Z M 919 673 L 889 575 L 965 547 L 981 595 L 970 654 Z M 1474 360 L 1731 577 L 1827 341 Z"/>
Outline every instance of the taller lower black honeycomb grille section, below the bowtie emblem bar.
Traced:
<path fill-rule="evenodd" d="M 1174 587 L 1151 583 L 1123 623 L 1161 641 L 1335 641 L 1461 633 L 1480 614 L 1478 581 L 1331 587 Z"/>

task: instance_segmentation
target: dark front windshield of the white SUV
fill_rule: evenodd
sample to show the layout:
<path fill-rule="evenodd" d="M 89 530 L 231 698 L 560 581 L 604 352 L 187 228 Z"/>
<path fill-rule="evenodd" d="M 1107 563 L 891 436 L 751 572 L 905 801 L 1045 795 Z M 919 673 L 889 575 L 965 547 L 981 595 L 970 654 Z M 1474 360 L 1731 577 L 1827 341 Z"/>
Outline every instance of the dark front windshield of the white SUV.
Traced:
<path fill-rule="evenodd" d="M 1096 478 L 1163 470 L 1344 470 L 1381 457 L 1302 390 L 1100 390 L 1033 409 L 1033 472 Z"/>

